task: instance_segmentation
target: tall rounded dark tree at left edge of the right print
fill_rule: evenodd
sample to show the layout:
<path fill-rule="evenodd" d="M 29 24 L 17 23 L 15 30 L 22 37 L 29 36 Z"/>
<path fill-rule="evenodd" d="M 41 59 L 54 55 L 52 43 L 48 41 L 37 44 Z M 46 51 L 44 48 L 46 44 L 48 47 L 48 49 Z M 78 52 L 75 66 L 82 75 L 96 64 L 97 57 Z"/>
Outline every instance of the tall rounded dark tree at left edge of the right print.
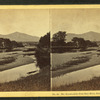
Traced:
<path fill-rule="evenodd" d="M 56 45 L 65 45 L 66 44 L 66 32 L 59 31 L 53 35 L 52 42 Z"/>

